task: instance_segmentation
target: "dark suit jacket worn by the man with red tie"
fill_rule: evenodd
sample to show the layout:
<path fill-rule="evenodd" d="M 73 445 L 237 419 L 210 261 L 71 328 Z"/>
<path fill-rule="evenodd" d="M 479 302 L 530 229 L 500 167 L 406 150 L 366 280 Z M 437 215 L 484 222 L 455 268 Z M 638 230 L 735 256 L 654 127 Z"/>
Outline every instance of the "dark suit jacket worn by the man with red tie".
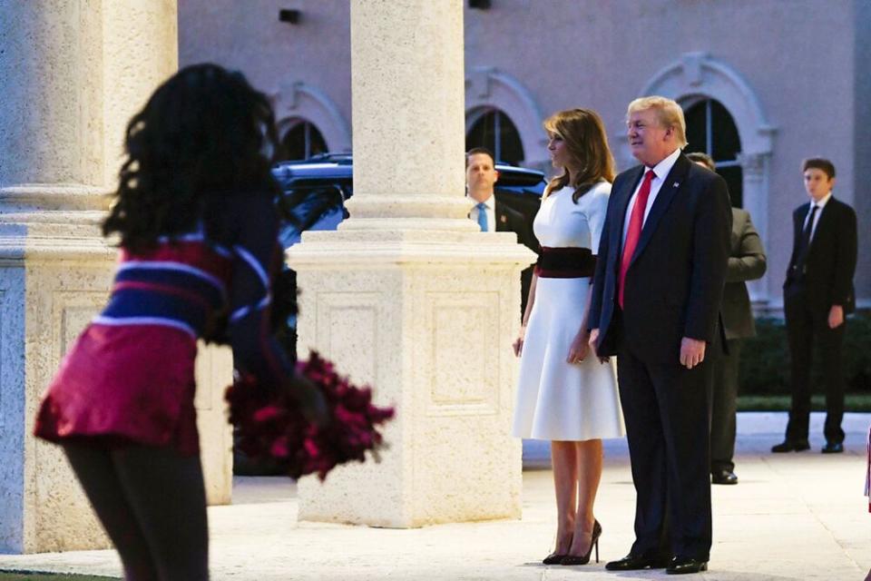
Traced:
<path fill-rule="evenodd" d="M 651 207 L 632 255 L 616 321 L 623 218 L 643 166 L 614 180 L 596 261 L 589 328 L 597 351 L 616 355 L 618 333 L 636 357 L 679 364 L 683 337 L 712 341 L 729 259 L 731 217 L 726 182 L 680 154 Z"/>

